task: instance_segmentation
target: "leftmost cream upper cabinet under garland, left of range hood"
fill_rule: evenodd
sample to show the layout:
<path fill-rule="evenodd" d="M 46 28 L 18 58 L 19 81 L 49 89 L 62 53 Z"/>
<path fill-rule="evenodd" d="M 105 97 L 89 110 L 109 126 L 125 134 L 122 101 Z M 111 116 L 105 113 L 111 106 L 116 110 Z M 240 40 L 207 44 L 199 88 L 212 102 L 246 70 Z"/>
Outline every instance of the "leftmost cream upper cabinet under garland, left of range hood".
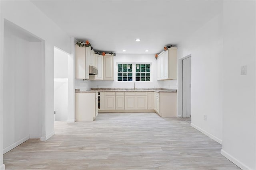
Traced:
<path fill-rule="evenodd" d="M 89 79 L 89 47 L 76 45 L 76 79 Z"/>

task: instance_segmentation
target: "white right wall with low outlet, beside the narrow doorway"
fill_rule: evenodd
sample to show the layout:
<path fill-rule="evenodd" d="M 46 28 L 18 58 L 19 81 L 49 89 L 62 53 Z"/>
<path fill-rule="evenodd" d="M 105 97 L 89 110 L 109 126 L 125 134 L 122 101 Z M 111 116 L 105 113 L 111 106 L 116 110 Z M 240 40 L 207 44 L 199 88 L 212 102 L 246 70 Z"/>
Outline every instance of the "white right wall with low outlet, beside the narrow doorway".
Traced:
<path fill-rule="evenodd" d="M 222 143 L 222 52 L 222 14 L 178 44 L 178 59 L 192 57 L 191 125 L 219 143 Z"/>

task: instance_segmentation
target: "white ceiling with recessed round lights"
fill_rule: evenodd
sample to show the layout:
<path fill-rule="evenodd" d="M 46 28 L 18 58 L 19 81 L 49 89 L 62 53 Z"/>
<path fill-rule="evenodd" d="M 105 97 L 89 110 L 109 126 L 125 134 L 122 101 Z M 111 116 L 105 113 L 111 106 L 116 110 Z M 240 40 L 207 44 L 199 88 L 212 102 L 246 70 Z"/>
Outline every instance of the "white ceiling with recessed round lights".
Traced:
<path fill-rule="evenodd" d="M 68 35 L 97 51 L 127 54 L 160 53 L 222 10 L 222 0 L 31 1 Z"/>

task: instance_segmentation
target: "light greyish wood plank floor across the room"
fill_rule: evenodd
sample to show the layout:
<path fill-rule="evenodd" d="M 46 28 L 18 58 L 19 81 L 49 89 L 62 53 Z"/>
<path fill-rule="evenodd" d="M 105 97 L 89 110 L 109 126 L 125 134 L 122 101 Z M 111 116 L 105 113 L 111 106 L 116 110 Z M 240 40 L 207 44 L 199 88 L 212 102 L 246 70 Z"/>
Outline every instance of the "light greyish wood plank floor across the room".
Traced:
<path fill-rule="evenodd" d="M 101 113 L 93 122 L 55 123 L 48 141 L 4 154 L 6 170 L 235 170 L 222 146 L 182 118 Z"/>

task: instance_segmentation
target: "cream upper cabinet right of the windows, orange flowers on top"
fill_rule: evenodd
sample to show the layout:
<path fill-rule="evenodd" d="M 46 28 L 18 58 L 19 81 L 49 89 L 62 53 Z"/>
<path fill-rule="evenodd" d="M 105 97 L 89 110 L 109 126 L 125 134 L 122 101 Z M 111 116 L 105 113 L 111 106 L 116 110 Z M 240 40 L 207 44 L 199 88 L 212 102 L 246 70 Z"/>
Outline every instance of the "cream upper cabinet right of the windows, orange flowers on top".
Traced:
<path fill-rule="evenodd" d="M 157 60 L 157 80 L 177 79 L 176 47 L 160 53 Z"/>

